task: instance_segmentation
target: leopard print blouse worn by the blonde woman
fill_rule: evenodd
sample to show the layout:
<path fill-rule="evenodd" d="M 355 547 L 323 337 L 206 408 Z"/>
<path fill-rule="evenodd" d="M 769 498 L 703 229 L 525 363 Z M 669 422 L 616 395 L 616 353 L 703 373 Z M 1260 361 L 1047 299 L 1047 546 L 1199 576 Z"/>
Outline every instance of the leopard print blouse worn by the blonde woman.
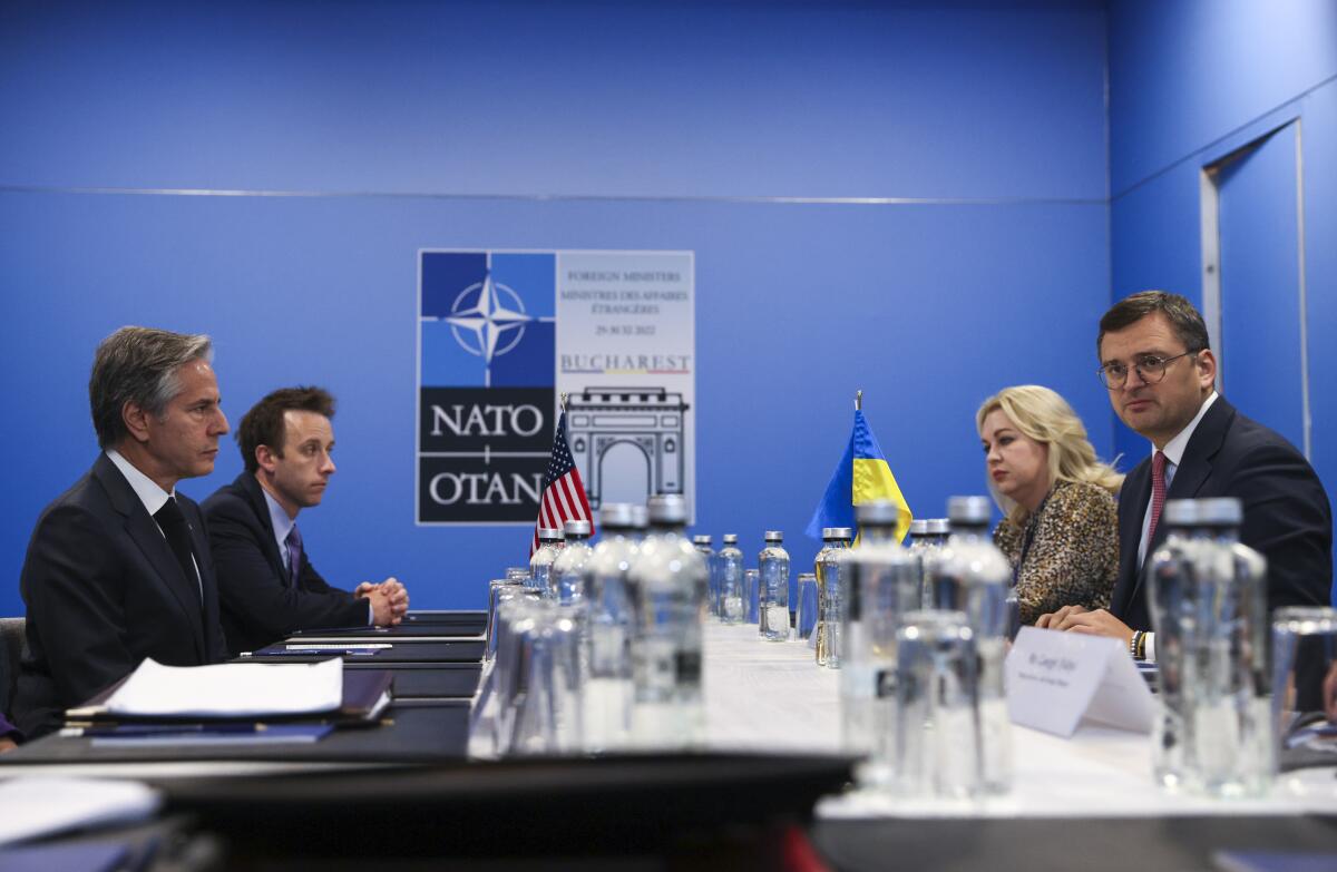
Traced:
<path fill-rule="evenodd" d="M 1095 484 L 1059 481 L 1040 512 L 1017 527 L 1004 519 L 993 543 L 1016 571 L 1027 528 L 1031 548 L 1016 584 L 1021 623 L 1063 606 L 1108 609 L 1119 575 L 1119 515 L 1114 496 Z"/>

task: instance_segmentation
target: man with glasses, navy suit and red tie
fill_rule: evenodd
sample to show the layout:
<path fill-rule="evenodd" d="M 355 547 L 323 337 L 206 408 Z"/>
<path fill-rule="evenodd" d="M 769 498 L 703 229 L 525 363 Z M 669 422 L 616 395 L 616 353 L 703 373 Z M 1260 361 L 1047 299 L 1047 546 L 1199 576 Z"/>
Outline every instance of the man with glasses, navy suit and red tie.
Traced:
<path fill-rule="evenodd" d="M 1146 570 L 1173 499 L 1238 498 L 1239 538 L 1267 558 L 1269 610 L 1328 605 L 1328 495 L 1304 455 L 1217 393 L 1217 358 L 1193 304 L 1159 290 L 1126 297 L 1100 318 L 1096 349 L 1114 411 L 1151 440 L 1151 456 L 1119 494 L 1119 578 L 1108 611 L 1066 606 L 1036 626 L 1114 637 L 1154 661 Z"/>

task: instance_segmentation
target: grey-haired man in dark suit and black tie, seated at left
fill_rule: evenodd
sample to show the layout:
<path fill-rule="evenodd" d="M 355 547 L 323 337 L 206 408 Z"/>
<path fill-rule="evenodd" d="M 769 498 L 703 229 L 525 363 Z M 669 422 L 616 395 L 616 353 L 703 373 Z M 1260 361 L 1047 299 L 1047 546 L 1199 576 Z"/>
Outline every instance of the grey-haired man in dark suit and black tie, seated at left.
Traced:
<path fill-rule="evenodd" d="M 103 453 L 41 512 L 20 586 L 28 607 L 15 698 L 28 737 L 144 658 L 226 655 L 209 535 L 176 483 L 209 475 L 227 432 L 207 336 L 122 328 L 98 346 L 88 399 Z"/>

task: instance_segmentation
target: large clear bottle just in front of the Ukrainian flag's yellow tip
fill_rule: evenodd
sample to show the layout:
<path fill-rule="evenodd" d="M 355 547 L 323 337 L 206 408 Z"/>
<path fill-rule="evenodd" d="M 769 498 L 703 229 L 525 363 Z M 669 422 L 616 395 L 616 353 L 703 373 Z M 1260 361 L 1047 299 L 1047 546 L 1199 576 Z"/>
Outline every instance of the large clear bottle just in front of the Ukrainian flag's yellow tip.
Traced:
<path fill-rule="evenodd" d="M 886 500 L 856 506 L 858 544 L 841 562 L 841 579 L 845 582 L 838 649 L 841 742 L 850 754 L 873 752 L 874 703 L 889 695 L 888 687 L 880 686 L 880 675 L 896 666 L 894 659 L 886 659 L 894 654 L 894 646 L 889 650 L 874 647 L 872 631 L 890 627 L 894 633 L 896 614 L 910 611 L 917 605 L 892 602 L 900 598 L 904 586 L 896 584 L 896 579 L 904 576 L 910 566 L 905 550 L 896 540 L 898 514 L 900 507 Z M 884 570 L 888 564 L 900 575 Z M 874 583 L 874 579 L 881 583 Z M 861 778 L 866 778 L 866 773 Z"/>

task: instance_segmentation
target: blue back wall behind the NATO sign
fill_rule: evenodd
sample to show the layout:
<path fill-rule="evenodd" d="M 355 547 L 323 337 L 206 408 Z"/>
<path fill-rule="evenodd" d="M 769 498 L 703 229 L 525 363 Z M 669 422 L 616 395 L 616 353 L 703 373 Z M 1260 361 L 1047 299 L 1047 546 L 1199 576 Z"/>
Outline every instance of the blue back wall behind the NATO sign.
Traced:
<path fill-rule="evenodd" d="M 856 388 L 924 516 L 983 492 L 1003 385 L 1108 453 L 1104 52 L 1103 4 L 1058 0 L 4 7 L 0 614 L 131 322 L 213 334 L 234 423 L 340 397 L 328 578 L 481 606 L 528 534 L 413 526 L 418 247 L 695 250 L 699 528 L 749 551 L 816 552 Z"/>

